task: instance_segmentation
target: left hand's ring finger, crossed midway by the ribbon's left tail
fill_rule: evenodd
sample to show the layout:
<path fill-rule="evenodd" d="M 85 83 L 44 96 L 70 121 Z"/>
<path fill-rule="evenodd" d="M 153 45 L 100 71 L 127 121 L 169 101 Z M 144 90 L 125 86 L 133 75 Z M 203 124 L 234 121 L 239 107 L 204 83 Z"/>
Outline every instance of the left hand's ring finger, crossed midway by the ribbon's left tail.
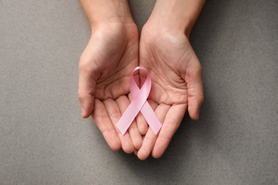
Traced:
<path fill-rule="evenodd" d="M 130 105 L 130 101 L 128 100 L 128 97 L 126 96 L 120 96 L 116 100 L 118 107 L 120 108 L 120 113 L 123 115 L 125 110 L 127 109 L 128 105 Z M 142 145 L 142 136 L 138 130 L 137 124 L 135 121 L 133 121 L 128 128 L 128 133 L 130 134 L 130 138 L 133 142 L 133 146 L 135 149 L 140 149 Z"/>

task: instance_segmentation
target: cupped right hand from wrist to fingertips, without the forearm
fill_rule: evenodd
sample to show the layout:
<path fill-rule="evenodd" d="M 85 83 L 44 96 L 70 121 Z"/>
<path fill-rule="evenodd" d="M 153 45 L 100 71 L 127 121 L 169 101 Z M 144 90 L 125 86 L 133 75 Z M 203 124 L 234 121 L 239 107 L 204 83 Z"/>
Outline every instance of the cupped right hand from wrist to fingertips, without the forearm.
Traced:
<path fill-rule="evenodd" d="M 148 101 L 162 122 L 158 135 L 138 120 L 140 133 L 145 135 L 137 154 L 146 159 L 150 153 L 163 155 L 170 140 L 180 126 L 185 111 L 197 120 L 204 95 L 202 68 L 187 36 L 173 28 L 160 28 L 146 24 L 140 38 L 140 65 L 148 68 L 152 77 L 152 90 Z"/>

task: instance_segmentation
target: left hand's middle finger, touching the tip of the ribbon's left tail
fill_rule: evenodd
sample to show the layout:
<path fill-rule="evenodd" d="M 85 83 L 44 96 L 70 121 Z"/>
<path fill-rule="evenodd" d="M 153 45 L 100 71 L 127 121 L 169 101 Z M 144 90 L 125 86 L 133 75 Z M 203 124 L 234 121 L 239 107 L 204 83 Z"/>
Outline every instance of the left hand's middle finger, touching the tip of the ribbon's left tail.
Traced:
<path fill-rule="evenodd" d="M 128 132 L 125 132 L 125 134 L 122 135 L 116 126 L 118 120 L 120 120 L 120 117 L 122 116 L 120 114 L 120 109 L 117 103 L 115 102 L 115 100 L 108 99 L 104 100 L 103 104 L 108 112 L 111 122 L 113 123 L 114 129 L 118 133 L 123 151 L 127 154 L 132 153 L 134 151 L 134 147 L 133 142 L 130 139 L 130 134 Z"/>

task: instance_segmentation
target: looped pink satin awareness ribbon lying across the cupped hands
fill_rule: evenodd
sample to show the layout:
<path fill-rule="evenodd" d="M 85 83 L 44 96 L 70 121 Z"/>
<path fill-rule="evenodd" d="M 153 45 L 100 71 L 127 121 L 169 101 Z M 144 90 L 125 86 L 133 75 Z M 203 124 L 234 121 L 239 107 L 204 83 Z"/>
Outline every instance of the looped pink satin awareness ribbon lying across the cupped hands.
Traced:
<path fill-rule="evenodd" d="M 133 73 L 136 70 L 148 70 L 142 66 L 138 66 L 133 70 Z M 148 73 L 147 79 L 143 84 L 142 88 L 138 88 L 137 84 L 135 83 L 133 73 L 130 75 L 130 93 L 133 96 L 133 101 L 130 103 L 128 108 L 123 113 L 122 117 L 117 123 L 117 127 L 120 130 L 120 133 L 125 134 L 126 130 L 130 126 L 130 124 L 135 119 L 138 112 L 141 112 L 145 120 L 148 122 L 150 129 L 153 130 L 155 134 L 158 134 L 158 131 L 162 127 L 160 120 L 153 112 L 152 107 L 148 103 L 148 96 L 150 94 L 150 88 L 152 86 L 152 81 L 150 79 L 150 73 Z"/>

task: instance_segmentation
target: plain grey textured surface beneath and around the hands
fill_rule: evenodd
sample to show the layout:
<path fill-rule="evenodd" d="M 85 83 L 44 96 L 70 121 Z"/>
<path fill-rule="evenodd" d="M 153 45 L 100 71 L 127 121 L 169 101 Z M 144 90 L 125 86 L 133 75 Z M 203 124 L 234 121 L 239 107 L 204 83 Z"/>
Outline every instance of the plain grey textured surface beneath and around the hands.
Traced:
<path fill-rule="evenodd" d="M 139 29 L 155 1 L 130 1 Z M 278 184 L 278 1 L 207 1 L 191 42 L 203 67 L 161 159 L 111 152 L 81 119 L 78 1 L 0 1 L 0 184 Z"/>

